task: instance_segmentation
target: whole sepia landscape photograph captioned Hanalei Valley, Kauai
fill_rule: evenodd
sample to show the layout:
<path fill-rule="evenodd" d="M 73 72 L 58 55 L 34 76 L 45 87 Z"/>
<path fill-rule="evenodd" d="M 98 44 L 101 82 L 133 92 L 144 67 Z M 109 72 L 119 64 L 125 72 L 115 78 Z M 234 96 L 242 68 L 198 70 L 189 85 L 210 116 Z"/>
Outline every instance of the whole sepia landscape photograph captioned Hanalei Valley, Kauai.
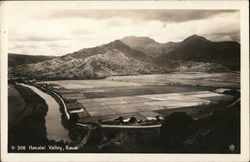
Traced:
<path fill-rule="evenodd" d="M 240 7 L 35 4 L 5 10 L 7 154 L 242 154 Z"/>

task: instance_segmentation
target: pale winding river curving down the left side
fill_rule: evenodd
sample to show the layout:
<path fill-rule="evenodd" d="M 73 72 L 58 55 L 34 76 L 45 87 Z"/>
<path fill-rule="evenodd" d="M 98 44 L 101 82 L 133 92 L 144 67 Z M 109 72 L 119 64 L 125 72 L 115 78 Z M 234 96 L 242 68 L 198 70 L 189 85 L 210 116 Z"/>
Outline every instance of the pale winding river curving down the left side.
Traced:
<path fill-rule="evenodd" d="M 70 142 L 69 133 L 68 130 L 65 129 L 61 122 L 61 113 L 59 111 L 59 104 L 56 102 L 56 100 L 40 91 L 38 88 L 27 85 L 27 84 L 21 84 L 22 86 L 28 87 L 32 89 L 35 93 L 37 93 L 41 98 L 43 98 L 46 101 L 46 104 L 48 105 L 48 112 L 45 117 L 46 120 L 46 128 L 47 128 L 47 138 L 49 140 L 55 140 L 55 141 L 61 141 L 64 142 Z"/>

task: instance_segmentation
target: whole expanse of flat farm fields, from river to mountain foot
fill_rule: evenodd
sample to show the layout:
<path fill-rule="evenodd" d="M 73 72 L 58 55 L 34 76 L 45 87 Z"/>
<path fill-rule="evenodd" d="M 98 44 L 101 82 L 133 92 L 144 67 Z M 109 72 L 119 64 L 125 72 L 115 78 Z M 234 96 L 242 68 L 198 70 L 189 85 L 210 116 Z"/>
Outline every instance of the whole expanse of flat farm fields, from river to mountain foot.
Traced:
<path fill-rule="evenodd" d="M 146 119 L 168 112 L 190 110 L 201 105 L 230 101 L 233 97 L 218 88 L 239 90 L 237 73 L 173 73 L 163 75 L 117 76 L 103 80 L 48 81 L 61 88 L 70 113 L 79 122 L 112 120 L 119 116 Z"/>

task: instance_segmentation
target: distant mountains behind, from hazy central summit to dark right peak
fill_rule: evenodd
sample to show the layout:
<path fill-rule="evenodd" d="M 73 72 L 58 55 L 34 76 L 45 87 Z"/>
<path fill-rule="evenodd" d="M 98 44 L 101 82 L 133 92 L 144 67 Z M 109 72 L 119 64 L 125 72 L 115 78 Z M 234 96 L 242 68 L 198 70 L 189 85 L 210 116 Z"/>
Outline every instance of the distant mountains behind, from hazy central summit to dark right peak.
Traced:
<path fill-rule="evenodd" d="M 129 36 L 121 42 L 131 49 L 153 58 L 156 64 L 166 65 L 169 60 L 222 64 L 231 70 L 240 69 L 240 44 L 238 42 L 212 42 L 192 35 L 181 42 L 158 43 L 148 37 Z"/>

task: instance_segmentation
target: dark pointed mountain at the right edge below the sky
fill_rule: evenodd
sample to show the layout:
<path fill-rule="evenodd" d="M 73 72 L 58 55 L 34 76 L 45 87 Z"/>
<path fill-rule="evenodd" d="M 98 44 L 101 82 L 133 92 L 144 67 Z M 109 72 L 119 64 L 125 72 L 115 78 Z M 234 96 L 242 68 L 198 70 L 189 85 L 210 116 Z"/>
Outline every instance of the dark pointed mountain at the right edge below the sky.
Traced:
<path fill-rule="evenodd" d="M 240 44 L 237 42 L 212 42 L 197 35 L 190 36 L 178 46 L 156 58 L 164 64 L 167 60 L 219 63 L 232 70 L 240 69 Z"/>

